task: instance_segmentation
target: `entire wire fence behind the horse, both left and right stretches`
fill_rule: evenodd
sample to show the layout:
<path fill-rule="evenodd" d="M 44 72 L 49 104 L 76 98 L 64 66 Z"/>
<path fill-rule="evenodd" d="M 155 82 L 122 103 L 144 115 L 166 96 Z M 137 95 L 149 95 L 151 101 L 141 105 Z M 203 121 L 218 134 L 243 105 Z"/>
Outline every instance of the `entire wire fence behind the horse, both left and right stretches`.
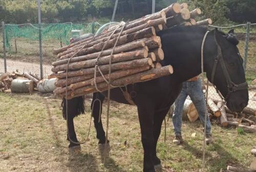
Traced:
<path fill-rule="evenodd" d="M 88 24 L 49 24 L 41 26 L 42 41 L 42 72 L 46 78 L 51 74 L 51 63 L 56 60 L 56 56 L 52 54 L 53 49 L 57 49 L 69 44 L 72 37 L 71 30 L 83 30 L 84 33 L 94 33 L 99 28 L 98 23 Z M 253 100 L 256 85 L 251 82 L 256 78 L 256 25 L 242 24 L 231 27 L 217 27 L 224 32 L 234 29 L 240 44 L 238 48 L 240 54 L 244 57 L 244 67 L 246 71 L 246 79 L 249 86 L 249 106 L 256 109 L 256 101 Z M 40 58 L 39 58 L 39 28 L 38 25 L 5 25 L 0 28 L 0 73 L 18 71 L 31 72 L 40 75 Z M 4 62 L 3 33 L 5 33 L 6 42 L 6 65 Z M 254 87 L 254 88 L 253 88 Z M 213 87 L 209 89 L 209 97 L 219 99 Z"/>

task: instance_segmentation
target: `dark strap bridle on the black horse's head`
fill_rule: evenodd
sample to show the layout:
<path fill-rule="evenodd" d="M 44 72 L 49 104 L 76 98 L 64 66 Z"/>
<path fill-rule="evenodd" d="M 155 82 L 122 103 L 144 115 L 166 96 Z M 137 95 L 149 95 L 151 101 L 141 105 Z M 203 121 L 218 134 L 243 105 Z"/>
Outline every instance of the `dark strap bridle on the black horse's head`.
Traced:
<path fill-rule="evenodd" d="M 224 73 L 224 77 L 225 77 L 226 83 L 227 83 L 227 94 L 226 94 L 226 96 L 223 97 L 221 95 L 221 93 L 219 92 L 219 90 L 216 88 L 215 85 L 214 85 L 214 87 L 215 87 L 217 93 L 221 96 L 221 98 L 224 99 L 224 100 L 227 100 L 230 93 L 233 93 L 233 92 L 236 92 L 236 91 L 239 91 L 239 90 L 248 89 L 248 84 L 247 84 L 247 82 L 243 82 L 243 83 L 239 83 L 239 84 L 236 84 L 236 83 L 232 82 L 232 80 L 231 80 L 231 78 L 228 74 L 224 59 L 223 59 L 221 47 L 220 47 L 218 41 L 216 40 L 216 32 L 217 31 L 215 30 L 214 31 L 214 38 L 215 38 L 215 42 L 216 42 L 217 47 L 218 47 L 218 54 L 217 54 L 217 57 L 214 60 L 214 67 L 213 67 L 212 72 L 211 72 L 210 81 L 211 81 L 212 84 L 214 84 L 214 77 L 215 77 L 215 73 L 216 73 L 216 68 L 217 68 L 218 62 L 220 62 L 221 69 Z"/>

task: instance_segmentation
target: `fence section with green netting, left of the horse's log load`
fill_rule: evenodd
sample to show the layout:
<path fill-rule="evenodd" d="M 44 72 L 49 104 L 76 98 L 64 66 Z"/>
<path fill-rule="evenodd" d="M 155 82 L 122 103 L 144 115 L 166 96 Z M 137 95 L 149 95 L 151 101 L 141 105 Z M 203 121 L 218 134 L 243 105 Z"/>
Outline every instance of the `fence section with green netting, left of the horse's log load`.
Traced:
<path fill-rule="evenodd" d="M 41 32 L 42 76 L 51 74 L 51 63 L 56 60 L 52 54 L 57 49 L 69 44 L 72 30 L 83 30 L 84 33 L 93 33 L 100 25 L 89 24 L 48 24 L 38 25 L 4 25 L 0 40 L 3 42 L 5 33 L 6 68 L 7 72 L 31 72 L 40 76 L 39 32 Z M 3 27 L 3 25 L 2 25 Z M 4 48 L 0 46 L 0 72 L 4 68 Z"/>

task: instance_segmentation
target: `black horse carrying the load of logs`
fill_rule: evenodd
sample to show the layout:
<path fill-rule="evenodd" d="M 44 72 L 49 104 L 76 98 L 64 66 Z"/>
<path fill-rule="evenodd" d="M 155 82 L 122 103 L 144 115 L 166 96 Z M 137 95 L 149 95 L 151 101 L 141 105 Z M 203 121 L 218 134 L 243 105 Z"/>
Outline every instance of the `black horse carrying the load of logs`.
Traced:
<path fill-rule="evenodd" d="M 178 26 L 160 31 L 158 36 L 161 37 L 165 55 L 162 65 L 172 65 L 174 74 L 127 85 L 127 91 L 133 92 L 132 99 L 138 109 L 144 149 L 143 171 L 155 171 L 154 165 L 161 163 L 156 155 L 156 146 L 163 119 L 170 105 L 179 95 L 182 82 L 201 73 L 201 46 L 206 32 L 206 28 L 197 26 Z M 238 41 L 231 32 L 224 34 L 218 30 L 209 31 L 203 49 L 203 66 L 207 78 L 221 92 L 228 108 L 234 112 L 241 112 L 248 104 L 248 89 L 243 59 L 239 54 L 237 44 Z M 106 92 L 93 95 L 93 101 L 96 98 L 101 101 L 101 103 L 96 101 L 92 109 L 99 143 L 105 143 L 105 133 L 101 120 L 99 120 L 100 105 L 102 106 L 105 95 Z M 111 99 L 129 104 L 119 88 L 111 90 Z M 83 112 L 82 101 L 82 97 L 68 101 L 68 139 L 75 142 L 78 140 L 74 131 L 73 118 Z M 64 116 L 66 116 L 65 107 L 64 103 Z M 79 144 L 70 142 L 69 147 L 72 146 L 79 146 Z"/>

